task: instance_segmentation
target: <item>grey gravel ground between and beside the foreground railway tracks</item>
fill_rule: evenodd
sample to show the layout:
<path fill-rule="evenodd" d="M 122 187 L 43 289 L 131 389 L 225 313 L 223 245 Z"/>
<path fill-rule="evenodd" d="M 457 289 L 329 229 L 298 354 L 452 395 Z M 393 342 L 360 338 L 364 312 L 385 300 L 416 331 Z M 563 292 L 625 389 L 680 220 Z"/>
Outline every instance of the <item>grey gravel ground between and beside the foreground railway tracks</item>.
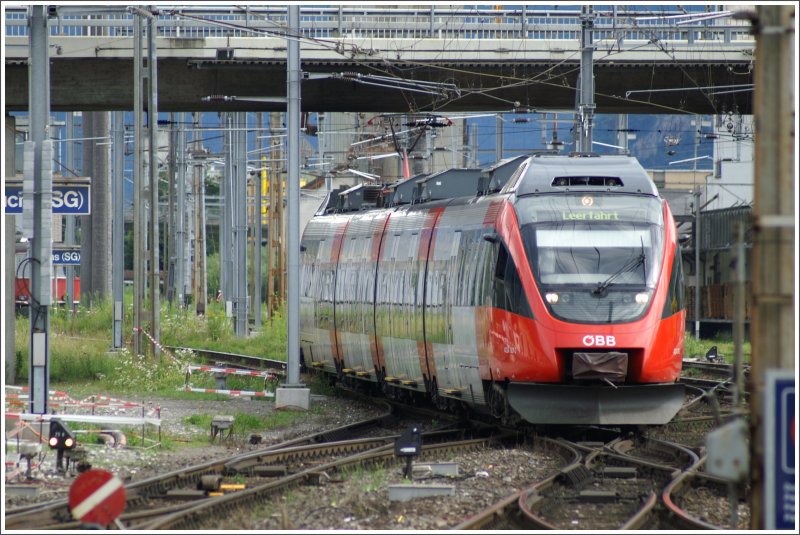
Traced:
<path fill-rule="evenodd" d="M 142 398 L 144 399 L 144 397 Z M 96 468 L 104 468 L 125 482 L 138 481 L 159 473 L 181 467 L 227 457 L 237 452 L 254 449 L 248 437 L 233 436 L 222 443 L 210 442 L 210 430 L 189 424 L 192 415 L 235 415 L 249 413 L 267 416 L 274 411 L 274 403 L 263 399 L 230 398 L 225 400 L 178 400 L 147 398 L 147 411 L 161 409 L 161 427 L 169 437 L 170 449 L 137 447 L 109 447 L 104 444 L 87 446 L 87 461 Z M 142 401 L 128 399 L 128 401 Z M 277 443 L 326 428 L 334 428 L 365 419 L 378 410 L 343 398 L 312 396 L 311 410 L 290 428 L 262 433 L 264 443 Z M 141 409 L 129 409 L 128 415 L 141 415 Z M 13 423 L 7 431 L 13 429 Z M 128 436 L 140 429 L 128 428 Z M 656 432 L 656 436 L 683 443 L 702 443 L 700 432 Z M 88 441 L 84 441 L 88 442 Z M 197 445 L 198 442 L 202 445 Z M 190 443 L 194 445 L 189 445 Z M 262 446 L 263 447 L 263 444 Z M 4 503 L 6 508 L 65 497 L 75 473 L 63 475 L 55 470 L 55 455 L 48 451 L 41 466 L 34 469 L 33 481 L 22 475 L 6 480 Z M 6 474 L 13 473 L 17 463 L 24 469 L 12 443 L 7 446 Z M 417 475 L 421 484 L 445 484 L 453 487 L 452 496 L 422 498 L 408 502 L 390 501 L 388 488 L 402 483 L 402 466 L 390 466 L 376 471 L 352 470 L 336 474 L 322 486 L 298 487 L 235 518 L 221 519 L 208 529 L 220 530 L 444 530 L 452 528 L 469 516 L 490 506 L 498 499 L 551 474 L 560 465 L 558 459 L 529 448 L 483 450 L 451 456 L 438 461 L 456 462 L 459 475 L 452 478 L 431 478 Z M 10 469 L 10 470 L 9 470 Z M 29 493 L 18 494 L 19 489 Z M 702 490 L 692 495 L 691 502 L 702 502 L 705 517 L 725 523 L 727 507 L 724 500 L 715 496 L 704 498 Z M 696 505 L 696 504 L 695 504 Z M 713 514 L 712 514 L 713 513 Z M 740 511 L 740 519 L 747 518 L 747 510 Z M 740 520 L 741 521 L 741 520 Z M 741 525 L 741 524 L 740 524 Z M 580 526 L 576 526 L 582 529 Z M 586 526 L 587 529 L 590 526 Z"/>

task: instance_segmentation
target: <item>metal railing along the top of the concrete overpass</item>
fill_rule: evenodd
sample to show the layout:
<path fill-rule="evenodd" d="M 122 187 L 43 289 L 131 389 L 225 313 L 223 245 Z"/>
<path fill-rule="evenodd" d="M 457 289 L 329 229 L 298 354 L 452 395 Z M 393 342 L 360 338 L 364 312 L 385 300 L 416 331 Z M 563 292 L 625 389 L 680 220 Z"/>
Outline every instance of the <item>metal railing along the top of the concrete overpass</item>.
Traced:
<path fill-rule="evenodd" d="M 302 7 L 301 33 L 310 39 L 532 39 L 577 40 L 580 11 L 576 9 L 429 9 Z M 646 7 L 646 6 L 644 6 Z M 699 6 L 698 6 L 699 7 Z M 660 40 L 693 45 L 696 41 L 730 44 L 753 41 L 749 22 L 720 16 L 696 22 L 672 18 L 683 12 L 609 9 L 595 11 L 595 40 Z M 705 12 L 697 12 L 698 18 Z M 713 15 L 713 13 L 712 13 Z M 50 19 L 50 34 L 66 37 L 127 37 L 133 32 L 133 14 L 124 6 L 60 6 Z M 670 22 L 672 21 L 672 22 Z M 161 7 L 160 37 L 282 36 L 287 14 L 282 7 L 215 8 Z M 28 8 L 5 11 L 6 37 L 28 35 Z"/>

